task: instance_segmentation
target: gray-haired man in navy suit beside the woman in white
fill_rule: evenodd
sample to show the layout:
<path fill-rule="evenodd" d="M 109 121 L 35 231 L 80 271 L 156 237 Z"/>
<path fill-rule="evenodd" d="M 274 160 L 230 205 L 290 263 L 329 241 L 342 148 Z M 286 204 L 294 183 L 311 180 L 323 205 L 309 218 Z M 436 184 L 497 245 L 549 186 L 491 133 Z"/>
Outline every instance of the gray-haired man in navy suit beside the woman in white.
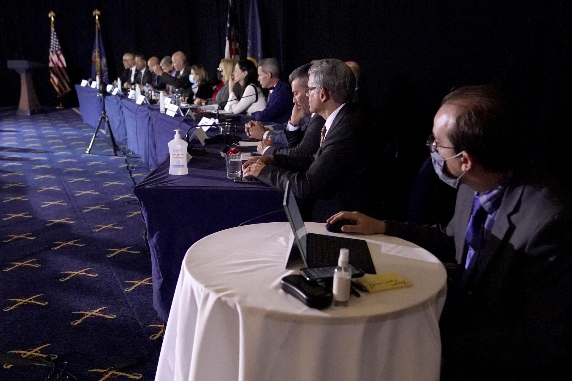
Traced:
<path fill-rule="evenodd" d="M 266 107 L 252 113 L 253 121 L 286 123 L 292 110 L 292 91 L 288 83 L 280 80 L 280 69 L 276 58 L 265 58 L 258 64 L 258 82 L 268 89 Z"/>

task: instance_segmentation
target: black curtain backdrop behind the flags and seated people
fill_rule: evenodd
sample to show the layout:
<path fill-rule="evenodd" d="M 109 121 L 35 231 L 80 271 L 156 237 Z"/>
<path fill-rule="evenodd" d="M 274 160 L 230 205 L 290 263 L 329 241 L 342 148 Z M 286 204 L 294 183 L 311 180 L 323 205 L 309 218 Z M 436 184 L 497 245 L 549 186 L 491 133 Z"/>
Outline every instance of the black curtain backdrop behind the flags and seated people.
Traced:
<path fill-rule="evenodd" d="M 245 39 L 250 0 L 233 0 Z M 319 58 L 357 61 L 360 88 L 380 125 L 423 146 L 440 99 L 455 86 L 496 83 L 517 99 L 530 154 L 562 166 L 570 142 L 572 60 L 567 2 L 541 0 L 259 0 L 265 57 L 276 57 L 286 78 Z M 13 1 L 0 13 L 0 105 L 18 102 L 19 79 L 5 60 L 47 62 L 49 18 L 73 83 L 88 78 L 93 9 L 101 11 L 110 78 L 125 51 L 162 58 L 185 51 L 211 75 L 224 54 L 227 0 L 142 2 Z M 244 45 L 245 46 L 245 45 Z M 245 50 L 245 49 L 244 49 Z M 34 74 L 42 105 L 55 105 L 47 69 Z M 74 94 L 64 105 L 77 105 Z M 412 157 L 425 151 L 414 149 Z M 555 162 L 555 163 L 552 163 Z"/>

